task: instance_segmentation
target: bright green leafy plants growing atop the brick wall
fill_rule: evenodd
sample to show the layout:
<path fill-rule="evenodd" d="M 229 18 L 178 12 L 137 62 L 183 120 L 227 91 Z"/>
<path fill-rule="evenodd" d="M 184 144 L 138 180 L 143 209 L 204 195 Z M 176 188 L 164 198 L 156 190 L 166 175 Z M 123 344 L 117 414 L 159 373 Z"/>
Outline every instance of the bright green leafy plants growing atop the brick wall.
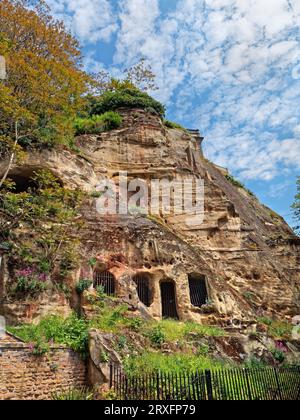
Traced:
<path fill-rule="evenodd" d="M 68 318 L 52 315 L 40 321 L 39 324 L 10 327 L 9 331 L 16 334 L 26 343 L 34 343 L 40 348 L 53 342 L 63 344 L 86 355 L 88 345 L 88 322 L 72 314 Z M 49 347 L 48 347 L 49 348 Z"/>

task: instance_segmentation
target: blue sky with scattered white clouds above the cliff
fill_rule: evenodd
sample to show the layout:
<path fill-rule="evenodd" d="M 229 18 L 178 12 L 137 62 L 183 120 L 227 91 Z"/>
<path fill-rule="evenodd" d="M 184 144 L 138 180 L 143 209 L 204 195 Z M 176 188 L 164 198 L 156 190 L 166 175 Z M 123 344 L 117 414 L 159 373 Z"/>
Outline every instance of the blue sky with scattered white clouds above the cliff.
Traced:
<path fill-rule="evenodd" d="M 300 175 L 299 0 L 47 0 L 89 71 L 145 57 L 168 118 L 292 224 Z"/>

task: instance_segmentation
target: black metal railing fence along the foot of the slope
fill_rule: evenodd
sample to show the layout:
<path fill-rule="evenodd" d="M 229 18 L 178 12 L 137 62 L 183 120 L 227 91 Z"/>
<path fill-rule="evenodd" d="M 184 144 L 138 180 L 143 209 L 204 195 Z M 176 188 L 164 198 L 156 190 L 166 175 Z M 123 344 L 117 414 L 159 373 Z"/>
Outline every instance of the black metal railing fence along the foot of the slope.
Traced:
<path fill-rule="evenodd" d="M 125 375 L 111 365 L 110 387 L 120 400 L 300 400 L 300 367 L 223 369 Z"/>

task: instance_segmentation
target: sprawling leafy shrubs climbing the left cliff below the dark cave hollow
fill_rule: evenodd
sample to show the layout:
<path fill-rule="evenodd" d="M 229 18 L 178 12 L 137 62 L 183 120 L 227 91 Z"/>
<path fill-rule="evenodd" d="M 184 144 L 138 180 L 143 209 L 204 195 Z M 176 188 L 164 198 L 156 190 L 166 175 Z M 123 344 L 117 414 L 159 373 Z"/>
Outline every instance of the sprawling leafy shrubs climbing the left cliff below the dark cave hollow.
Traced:
<path fill-rule="evenodd" d="M 0 189 L 0 241 L 10 244 L 9 264 L 17 283 L 12 291 L 33 295 L 43 289 L 40 275 L 59 268 L 65 276 L 77 266 L 78 240 L 71 232 L 81 227 L 77 216 L 83 193 L 63 188 L 48 171 L 34 173 L 28 185 L 16 193 L 8 180 Z M 24 277 L 24 270 L 33 272 Z"/>

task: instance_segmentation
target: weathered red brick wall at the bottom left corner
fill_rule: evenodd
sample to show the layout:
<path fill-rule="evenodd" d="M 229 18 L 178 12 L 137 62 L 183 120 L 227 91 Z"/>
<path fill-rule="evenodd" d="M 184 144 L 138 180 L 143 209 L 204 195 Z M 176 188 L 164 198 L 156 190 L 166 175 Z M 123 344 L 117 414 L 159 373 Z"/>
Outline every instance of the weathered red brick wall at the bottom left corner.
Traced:
<path fill-rule="evenodd" d="M 0 341 L 0 400 L 50 400 L 54 392 L 86 385 L 86 366 L 71 350 L 33 356 L 26 344 Z"/>

